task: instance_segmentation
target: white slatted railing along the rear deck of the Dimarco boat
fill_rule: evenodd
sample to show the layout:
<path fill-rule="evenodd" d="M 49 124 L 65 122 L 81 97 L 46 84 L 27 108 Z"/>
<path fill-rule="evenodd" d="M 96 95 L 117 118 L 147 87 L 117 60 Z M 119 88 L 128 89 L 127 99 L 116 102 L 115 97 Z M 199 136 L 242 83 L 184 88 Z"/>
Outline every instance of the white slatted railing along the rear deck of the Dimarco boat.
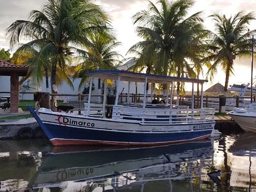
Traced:
<path fill-rule="evenodd" d="M 187 124 L 214 122 L 213 108 L 166 109 L 114 106 L 112 120 L 141 122 L 144 124 Z"/>

